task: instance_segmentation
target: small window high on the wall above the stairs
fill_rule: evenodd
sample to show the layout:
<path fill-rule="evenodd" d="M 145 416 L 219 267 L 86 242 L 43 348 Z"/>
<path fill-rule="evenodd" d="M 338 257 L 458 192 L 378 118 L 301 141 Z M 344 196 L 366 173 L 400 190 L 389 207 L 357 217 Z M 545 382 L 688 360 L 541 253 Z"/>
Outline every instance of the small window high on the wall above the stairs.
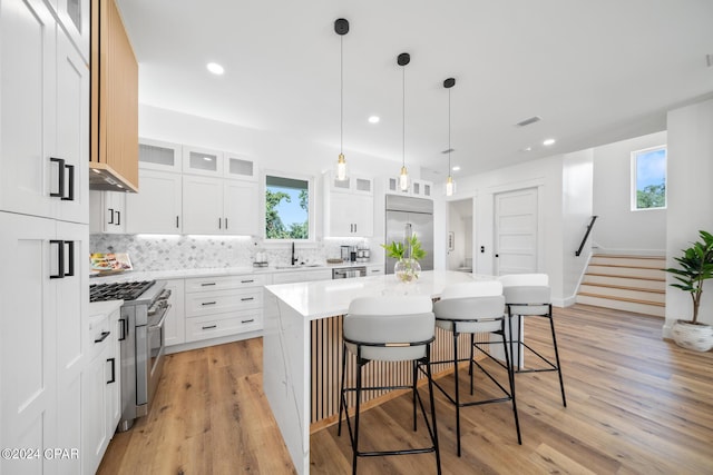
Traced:
<path fill-rule="evenodd" d="M 666 207 L 666 147 L 632 152 L 632 210 Z"/>

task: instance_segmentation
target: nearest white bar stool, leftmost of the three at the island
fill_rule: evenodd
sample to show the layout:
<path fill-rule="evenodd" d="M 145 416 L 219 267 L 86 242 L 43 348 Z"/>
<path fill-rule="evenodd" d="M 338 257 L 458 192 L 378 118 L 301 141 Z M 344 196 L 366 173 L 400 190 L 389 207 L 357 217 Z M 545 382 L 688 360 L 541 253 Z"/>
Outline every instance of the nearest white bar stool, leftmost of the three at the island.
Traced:
<path fill-rule="evenodd" d="M 433 304 L 426 296 L 401 296 L 401 297 L 362 297 L 352 300 L 349 306 L 349 314 L 344 316 L 343 326 L 343 355 L 342 355 L 342 383 L 340 388 L 339 404 L 339 428 L 338 435 L 342 433 L 342 412 L 345 412 L 348 392 L 356 393 L 356 408 L 354 425 L 346 418 L 349 437 L 352 444 L 352 473 L 356 473 L 358 457 L 372 457 L 380 455 L 408 455 L 436 453 L 436 465 L 438 474 L 441 473 L 441 458 L 438 447 L 438 432 L 436 427 L 436 408 L 433 405 L 433 379 L 429 366 L 431 358 L 431 343 L 434 339 Z M 351 353 L 356 357 L 356 386 L 344 387 L 346 354 Z M 362 368 L 370 362 L 412 362 L 411 385 L 393 386 L 362 386 Z M 431 420 L 426 413 L 421 395 L 417 390 L 417 379 L 419 367 L 428 378 L 428 389 L 431 404 Z M 381 452 L 359 451 L 359 416 L 361 407 L 361 395 L 364 390 L 383 389 L 411 389 L 413 396 L 413 431 L 417 429 L 418 399 L 421 414 L 426 420 L 432 445 L 422 448 L 404 448 Z"/>

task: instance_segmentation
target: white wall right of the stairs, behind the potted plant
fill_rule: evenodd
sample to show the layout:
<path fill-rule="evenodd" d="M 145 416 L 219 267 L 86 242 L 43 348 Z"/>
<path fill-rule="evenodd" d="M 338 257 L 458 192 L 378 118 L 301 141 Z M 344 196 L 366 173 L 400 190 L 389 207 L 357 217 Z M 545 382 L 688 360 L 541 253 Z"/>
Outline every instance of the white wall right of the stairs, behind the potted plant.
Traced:
<path fill-rule="evenodd" d="M 666 265 L 697 240 L 699 230 L 713 231 L 713 100 L 668 112 L 668 214 Z M 667 284 L 673 278 L 666 277 Z M 692 316 L 691 296 L 666 286 L 664 337 L 678 318 Z M 699 319 L 713 324 L 713 283 L 704 286 Z"/>

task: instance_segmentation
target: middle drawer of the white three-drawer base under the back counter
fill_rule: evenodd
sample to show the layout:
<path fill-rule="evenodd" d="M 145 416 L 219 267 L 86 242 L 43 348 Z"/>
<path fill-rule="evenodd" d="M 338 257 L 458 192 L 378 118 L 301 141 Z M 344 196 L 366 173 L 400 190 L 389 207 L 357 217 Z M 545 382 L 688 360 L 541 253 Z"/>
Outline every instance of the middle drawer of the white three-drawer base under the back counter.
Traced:
<path fill-rule="evenodd" d="M 240 310 L 262 308 L 263 289 L 245 288 L 237 290 L 202 291 L 186 294 L 186 317 L 199 317 L 212 314 L 227 314 Z"/>

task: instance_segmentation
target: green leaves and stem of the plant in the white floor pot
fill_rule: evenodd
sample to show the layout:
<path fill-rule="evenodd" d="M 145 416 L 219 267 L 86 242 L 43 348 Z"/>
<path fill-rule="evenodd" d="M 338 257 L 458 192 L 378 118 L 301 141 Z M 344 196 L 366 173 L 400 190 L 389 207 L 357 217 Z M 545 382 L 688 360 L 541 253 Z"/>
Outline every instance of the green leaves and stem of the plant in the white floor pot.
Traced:
<path fill-rule="evenodd" d="M 670 267 L 663 269 L 674 275 L 678 284 L 671 284 L 672 287 L 691 293 L 693 299 L 693 319 L 695 324 L 699 319 L 699 307 L 703 295 L 703 283 L 713 278 L 713 235 L 700 230 L 701 240 L 693 243 L 687 249 L 682 249 L 681 257 L 674 257 L 681 268 Z"/>

